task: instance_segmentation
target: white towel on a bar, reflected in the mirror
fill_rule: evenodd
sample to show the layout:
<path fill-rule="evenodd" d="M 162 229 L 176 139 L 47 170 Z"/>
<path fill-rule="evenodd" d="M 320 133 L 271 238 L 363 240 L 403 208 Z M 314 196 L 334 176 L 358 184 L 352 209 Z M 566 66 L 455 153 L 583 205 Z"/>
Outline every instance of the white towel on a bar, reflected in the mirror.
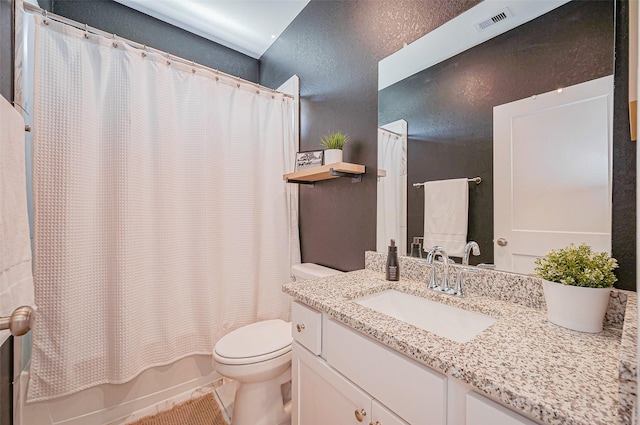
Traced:
<path fill-rule="evenodd" d="M 462 257 L 467 243 L 469 183 L 466 178 L 424 184 L 424 249 L 439 245 Z"/>

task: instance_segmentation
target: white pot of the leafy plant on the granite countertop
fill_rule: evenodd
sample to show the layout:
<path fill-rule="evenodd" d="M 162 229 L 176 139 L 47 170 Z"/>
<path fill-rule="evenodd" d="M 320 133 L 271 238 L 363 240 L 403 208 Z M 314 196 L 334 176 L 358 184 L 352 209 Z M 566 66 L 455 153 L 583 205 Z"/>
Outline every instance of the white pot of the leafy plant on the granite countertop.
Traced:
<path fill-rule="evenodd" d="M 585 288 L 542 281 L 551 323 L 579 332 L 602 331 L 611 288 Z"/>

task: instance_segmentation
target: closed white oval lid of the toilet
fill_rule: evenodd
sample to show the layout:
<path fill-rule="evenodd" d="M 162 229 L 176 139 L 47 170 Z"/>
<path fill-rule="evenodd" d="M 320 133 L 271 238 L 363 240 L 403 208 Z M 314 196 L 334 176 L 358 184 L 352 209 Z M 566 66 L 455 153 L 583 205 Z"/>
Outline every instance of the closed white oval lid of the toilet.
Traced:
<path fill-rule="evenodd" d="M 214 351 L 228 359 L 246 359 L 270 353 L 281 355 L 283 349 L 290 348 L 292 341 L 291 323 L 280 319 L 264 320 L 223 336 Z"/>

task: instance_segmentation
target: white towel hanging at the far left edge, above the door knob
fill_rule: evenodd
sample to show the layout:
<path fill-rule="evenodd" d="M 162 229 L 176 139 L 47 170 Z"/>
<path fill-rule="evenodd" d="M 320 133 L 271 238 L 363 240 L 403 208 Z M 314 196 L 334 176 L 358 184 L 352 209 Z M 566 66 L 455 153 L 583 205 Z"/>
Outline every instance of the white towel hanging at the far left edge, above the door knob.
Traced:
<path fill-rule="evenodd" d="M 24 143 L 22 116 L 0 96 L 0 316 L 33 305 Z"/>

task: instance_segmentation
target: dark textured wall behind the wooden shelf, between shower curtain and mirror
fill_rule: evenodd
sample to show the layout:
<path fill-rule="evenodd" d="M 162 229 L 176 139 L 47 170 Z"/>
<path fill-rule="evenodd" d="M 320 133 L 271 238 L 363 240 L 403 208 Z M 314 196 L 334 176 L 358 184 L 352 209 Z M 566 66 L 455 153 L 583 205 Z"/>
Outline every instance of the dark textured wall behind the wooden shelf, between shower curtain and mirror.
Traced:
<path fill-rule="evenodd" d="M 260 58 L 260 83 L 278 87 L 300 77 L 300 150 L 321 149 L 323 134 L 352 141 L 347 162 L 364 164 L 348 178 L 300 186 L 302 260 L 339 270 L 364 267 L 376 249 L 378 62 L 479 0 L 312 0 Z"/>

